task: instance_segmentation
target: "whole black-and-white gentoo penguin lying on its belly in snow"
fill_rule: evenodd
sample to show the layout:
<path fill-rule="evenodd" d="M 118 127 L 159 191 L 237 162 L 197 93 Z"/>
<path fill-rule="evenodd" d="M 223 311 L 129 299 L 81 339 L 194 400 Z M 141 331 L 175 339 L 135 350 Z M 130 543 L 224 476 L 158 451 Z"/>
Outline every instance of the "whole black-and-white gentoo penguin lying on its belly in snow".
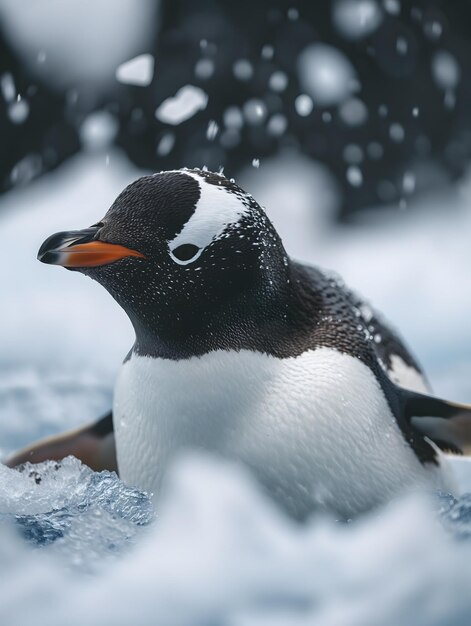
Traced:
<path fill-rule="evenodd" d="M 184 449 L 247 466 L 298 519 L 453 488 L 441 450 L 470 444 L 470 407 L 427 395 L 398 336 L 339 280 L 292 260 L 232 180 L 144 176 L 100 222 L 49 237 L 38 258 L 103 285 L 136 341 L 112 419 L 11 465 L 67 453 L 113 465 L 114 426 L 121 478 L 156 497 Z"/>

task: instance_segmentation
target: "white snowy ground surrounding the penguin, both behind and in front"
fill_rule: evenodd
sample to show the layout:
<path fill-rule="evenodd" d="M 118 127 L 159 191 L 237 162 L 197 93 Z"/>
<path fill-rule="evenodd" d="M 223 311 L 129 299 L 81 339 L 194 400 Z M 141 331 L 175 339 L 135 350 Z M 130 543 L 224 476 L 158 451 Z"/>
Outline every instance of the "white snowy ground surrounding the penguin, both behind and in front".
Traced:
<path fill-rule="evenodd" d="M 244 177 L 288 251 L 343 275 L 400 328 L 438 393 L 470 401 L 471 179 L 417 211 L 334 229 L 322 177 L 298 165 L 288 191 L 279 162 Z M 52 232 L 98 221 L 138 175 L 118 151 L 84 153 L 1 200 L 2 454 L 109 407 L 130 326 L 98 285 L 35 256 Z M 471 491 L 470 464 L 455 467 Z M 299 528 L 240 469 L 191 458 L 154 520 L 112 475 L 73 460 L 38 471 L 0 468 L 1 624 L 469 624 L 466 497 Z"/>

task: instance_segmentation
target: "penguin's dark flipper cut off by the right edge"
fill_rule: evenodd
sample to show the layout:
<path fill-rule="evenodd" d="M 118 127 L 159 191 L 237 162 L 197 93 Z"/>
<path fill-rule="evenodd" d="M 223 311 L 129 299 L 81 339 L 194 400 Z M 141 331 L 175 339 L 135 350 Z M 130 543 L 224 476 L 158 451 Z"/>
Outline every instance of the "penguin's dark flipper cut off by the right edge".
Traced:
<path fill-rule="evenodd" d="M 447 452 L 471 455 L 471 405 L 403 392 L 411 425 Z"/>

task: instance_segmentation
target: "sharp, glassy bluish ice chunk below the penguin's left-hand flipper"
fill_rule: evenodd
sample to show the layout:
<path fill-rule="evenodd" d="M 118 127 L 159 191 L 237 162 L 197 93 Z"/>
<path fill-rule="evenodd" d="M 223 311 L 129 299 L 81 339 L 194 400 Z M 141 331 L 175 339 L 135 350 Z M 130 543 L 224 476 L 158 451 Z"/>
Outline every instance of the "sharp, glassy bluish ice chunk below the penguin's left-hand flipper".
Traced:
<path fill-rule="evenodd" d="M 97 569 L 152 519 L 145 493 L 73 457 L 19 470 L 0 466 L 0 520 L 15 522 L 29 541 L 81 569 Z"/>

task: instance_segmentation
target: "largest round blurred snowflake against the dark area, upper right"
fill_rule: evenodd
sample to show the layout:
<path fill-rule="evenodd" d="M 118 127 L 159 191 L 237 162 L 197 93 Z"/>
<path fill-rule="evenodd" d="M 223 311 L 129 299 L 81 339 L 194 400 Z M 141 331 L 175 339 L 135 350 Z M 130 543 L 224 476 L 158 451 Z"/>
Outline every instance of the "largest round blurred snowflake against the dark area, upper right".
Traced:
<path fill-rule="evenodd" d="M 356 72 L 337 48 L 326 44 L 310 44 L 297 59 L 299 81 L 314 104 L 340 104 L 354 91 Z"/>

